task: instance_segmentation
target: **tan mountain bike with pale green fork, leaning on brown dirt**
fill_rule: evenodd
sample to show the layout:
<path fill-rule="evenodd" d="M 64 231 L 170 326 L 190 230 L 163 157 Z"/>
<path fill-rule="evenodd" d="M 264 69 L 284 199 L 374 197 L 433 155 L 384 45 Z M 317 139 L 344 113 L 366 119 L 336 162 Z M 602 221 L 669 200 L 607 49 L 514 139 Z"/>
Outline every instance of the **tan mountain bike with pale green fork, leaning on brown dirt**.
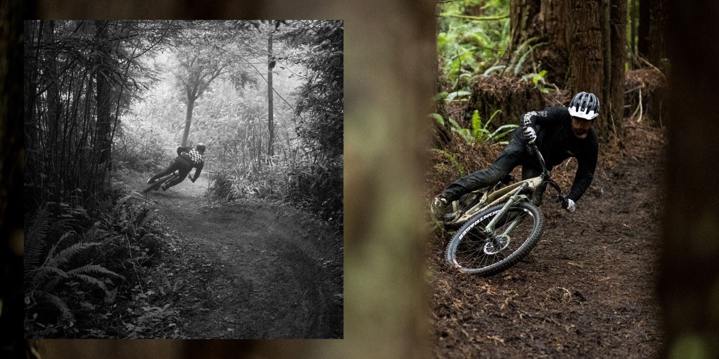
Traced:
<path fill-rule="evenodd" d="M 446 261 L 468 274 L 491 276 L 508 269 L 526 256 L 542 233 L 544 217 L 535 195 L 547 185 L 557 190 L 557 202 L 567 208 L 567 198 L 551 179 L 536 144 L 528 146 L 541 164 L 541 174 L 509 185 L 510 176 L 489 188 L 477 190 L 452 202 L 445 225 L 462 225 L 446 249 Z M 538 192 L 538 190 L 541 191 Z"/>

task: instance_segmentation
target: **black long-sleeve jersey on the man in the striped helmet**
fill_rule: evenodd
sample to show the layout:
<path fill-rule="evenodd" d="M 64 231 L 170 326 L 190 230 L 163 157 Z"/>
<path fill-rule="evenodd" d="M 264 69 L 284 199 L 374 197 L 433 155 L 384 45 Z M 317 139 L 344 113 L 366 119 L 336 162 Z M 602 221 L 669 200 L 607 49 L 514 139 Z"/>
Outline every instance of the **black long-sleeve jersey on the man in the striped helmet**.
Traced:
<path fill-rule="evenodd" d="M 569 157 L 577 158 L 577 174 L 567 197 L 577 202 L 589 188 L 594 178 L 599 154 L 599 139 L 594 127 L 584 139 L 577 139 L 572 132 L 572 117 L 564 106 L 553 106 L 542 111 L 531 111 L 522 116 L 522 125 L 532 127 L 537 134 L 536 144 L 550 167 L 561 164 Z M 514 133 L 523 141 L 521 129 Z"/>

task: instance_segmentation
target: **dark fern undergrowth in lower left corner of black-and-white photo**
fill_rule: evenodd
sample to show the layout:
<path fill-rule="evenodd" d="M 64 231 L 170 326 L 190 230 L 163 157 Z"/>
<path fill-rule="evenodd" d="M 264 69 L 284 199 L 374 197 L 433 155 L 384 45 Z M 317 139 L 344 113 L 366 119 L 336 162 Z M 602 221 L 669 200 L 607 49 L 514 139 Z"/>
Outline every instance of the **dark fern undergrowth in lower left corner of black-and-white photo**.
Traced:
<path fill-rule="evenodd" d="M 162 281 L 147 279 L 165 249 L 154 212 L 131 198 L 116 197 L 96 218 L 64 202 L 46 202 L 26 218 L 27 337 L 138 337 L 147 327 L 133 323 L 173 315 L 147 302 L 147 311 L 127 312 L 142 307 L 147 290 L 161 290 Z"/>

